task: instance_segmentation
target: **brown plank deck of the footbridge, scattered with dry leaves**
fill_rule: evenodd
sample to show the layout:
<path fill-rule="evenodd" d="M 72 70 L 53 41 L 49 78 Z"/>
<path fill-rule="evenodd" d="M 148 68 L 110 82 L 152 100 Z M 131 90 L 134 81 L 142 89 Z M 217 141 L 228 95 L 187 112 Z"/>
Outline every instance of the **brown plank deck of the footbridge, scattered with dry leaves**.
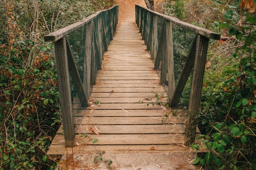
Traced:
<path fill-rule="evenodd" d="M 189 152 L 183 145 L 186 110 L 173 115 L 171 109 L 156 104 L 156 93 L 161 96 L 166 91 L 159 84 L 135 23 L 118 24 L 102 67 L 91 94 L 91 106 L 73 106 L 76 146 L 65 147 L 61 127 L 47 154 L 95 153 L 96 149 L 105 153 Z M 165 102 L 165 97 L 159 101 Z M 90 139 L 98 139 L 95 147 Z"/>

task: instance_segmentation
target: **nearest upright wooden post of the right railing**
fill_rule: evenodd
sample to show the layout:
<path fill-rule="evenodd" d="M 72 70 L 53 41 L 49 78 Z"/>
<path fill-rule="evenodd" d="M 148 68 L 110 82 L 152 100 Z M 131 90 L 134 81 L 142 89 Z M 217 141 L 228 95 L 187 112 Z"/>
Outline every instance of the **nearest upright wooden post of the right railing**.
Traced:
<path fill-rule="evenodd" d="M 186 146 L 189 146 L 195 142 L 196 127 L 198 125 L 198 109 L 202 95 L 202 84 L 204 79 L 204 67 L 207 56 L 208 42 L 209 38 L 198 35 L 195 53 L 195 65 L 189 99 L 189 113 L 186 121 Z"/>

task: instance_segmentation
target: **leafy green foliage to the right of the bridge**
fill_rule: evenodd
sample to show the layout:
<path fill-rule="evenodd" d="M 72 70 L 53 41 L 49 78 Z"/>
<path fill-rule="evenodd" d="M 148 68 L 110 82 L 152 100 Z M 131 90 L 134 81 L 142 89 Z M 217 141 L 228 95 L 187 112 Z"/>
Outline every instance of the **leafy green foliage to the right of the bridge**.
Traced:
<path fill-rule="evenodd" d="M 231 38 L 210 49 L 199 123 L 209 151 L 193 163 L 206 169 L 256 169 L 256 17 L 240 11 L 240 1 L 216 3 L 222 17 L 214 25 Z M 223 46 L 222 53 L 214 50 Z"/>

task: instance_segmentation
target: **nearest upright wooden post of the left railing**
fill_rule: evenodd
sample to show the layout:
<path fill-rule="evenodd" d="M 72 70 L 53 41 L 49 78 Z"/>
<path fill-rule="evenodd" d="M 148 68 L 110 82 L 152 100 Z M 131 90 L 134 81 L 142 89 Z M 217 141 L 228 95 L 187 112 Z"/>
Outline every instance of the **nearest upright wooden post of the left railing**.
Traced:
<path fill-rule="evenodd" d="M 61 110 L 64 126 L 65 144 L 72 147 L 75 144 L 74 122 L 72 117 L 72 102 L 70 92 L 70 79 L 67 62 L 66 37 L 55 42 L 56 65 L 58 69 L 58 82 L 61 97 Z"/>

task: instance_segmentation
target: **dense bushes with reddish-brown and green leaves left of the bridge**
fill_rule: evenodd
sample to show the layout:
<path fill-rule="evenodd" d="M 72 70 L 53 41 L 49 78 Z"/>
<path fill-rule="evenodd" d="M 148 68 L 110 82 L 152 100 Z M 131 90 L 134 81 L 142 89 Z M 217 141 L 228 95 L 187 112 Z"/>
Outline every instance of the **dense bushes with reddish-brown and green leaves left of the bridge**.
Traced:
<path fill-rule="evenodd" d="M 61 124 L 61 110 L 54 46 L 43 35 L 110 2 L 0 3 L 0 169 L 54 169 L 46 152 Z"/>

